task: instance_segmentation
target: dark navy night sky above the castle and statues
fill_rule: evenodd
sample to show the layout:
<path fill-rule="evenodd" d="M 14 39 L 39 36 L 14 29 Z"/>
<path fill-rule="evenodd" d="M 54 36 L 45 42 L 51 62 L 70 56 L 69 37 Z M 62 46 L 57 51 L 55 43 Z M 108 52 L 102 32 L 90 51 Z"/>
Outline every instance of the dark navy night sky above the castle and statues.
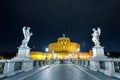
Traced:
<path fill-rule="evenodd" d="M 45 51 L 63 33 L 88 51 L 92 28 L 100 27 L 105 51 L 120 52 L 120 0 L 0 0 L 0 51 L 17 51 L 23 26 L 31 27 L 34 51 Z"/>

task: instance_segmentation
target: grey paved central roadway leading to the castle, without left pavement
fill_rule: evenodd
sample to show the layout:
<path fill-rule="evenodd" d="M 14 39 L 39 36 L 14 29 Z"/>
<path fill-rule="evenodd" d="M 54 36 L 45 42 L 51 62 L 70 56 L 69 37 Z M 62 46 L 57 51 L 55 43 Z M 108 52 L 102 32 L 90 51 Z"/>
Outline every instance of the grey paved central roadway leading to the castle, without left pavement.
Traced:
<path fill-rule="evenodd" d="M 99 75 L 94 76 L 73 64 L 56 64 L 24 80 L 118 80 L 104 74 Z"/>

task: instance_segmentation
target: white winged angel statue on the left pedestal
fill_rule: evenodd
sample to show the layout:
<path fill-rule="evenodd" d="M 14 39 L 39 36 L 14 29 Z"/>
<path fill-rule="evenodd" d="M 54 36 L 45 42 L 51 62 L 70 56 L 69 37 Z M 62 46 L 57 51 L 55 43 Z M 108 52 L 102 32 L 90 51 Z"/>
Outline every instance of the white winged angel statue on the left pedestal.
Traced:
<path fill-rule="evenodd" d="M 22 45 L 20 47 L 28 47 L 28 42 L 30 40 L 30 37 L 33 35 L 33 33 L 30 33 L 30 27 L 24 26 L 23 27 L 23 34 L 24 34 L 24 39 L 22 40 Z"/>

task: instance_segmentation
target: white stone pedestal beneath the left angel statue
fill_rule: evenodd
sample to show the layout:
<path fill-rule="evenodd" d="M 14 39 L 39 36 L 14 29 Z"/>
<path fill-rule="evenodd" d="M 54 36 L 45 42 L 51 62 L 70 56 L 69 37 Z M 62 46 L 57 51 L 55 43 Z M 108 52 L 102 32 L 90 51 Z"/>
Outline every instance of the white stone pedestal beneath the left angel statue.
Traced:
<path fill-rule="evenodd" d="M 29 71 L 33 69 L 33 59 L 29 55 L 30 48 L 28 47 L 19 47 L 18 48 L 18 56 L 12 58 L 12 60 L 16 62 L 22 63 L 22 71 Z"/>

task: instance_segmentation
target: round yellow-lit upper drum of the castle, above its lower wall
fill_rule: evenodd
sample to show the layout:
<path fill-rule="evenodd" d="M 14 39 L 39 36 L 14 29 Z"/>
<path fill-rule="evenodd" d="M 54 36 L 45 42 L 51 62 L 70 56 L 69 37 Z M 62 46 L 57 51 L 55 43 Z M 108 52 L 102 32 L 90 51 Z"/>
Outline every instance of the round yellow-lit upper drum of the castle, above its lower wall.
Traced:
<path fill-rule="evenodd" d="M 48 46 L 49 51 L 52 50 L 54 52 L 78 52 L 78 49 L 80 49 L 80 44 L 75 42 L 70 42 L 70 38 L 68 37 L 60 37 L 58 38 L 58 41 L 55 43 L 51 43 Z"/>

